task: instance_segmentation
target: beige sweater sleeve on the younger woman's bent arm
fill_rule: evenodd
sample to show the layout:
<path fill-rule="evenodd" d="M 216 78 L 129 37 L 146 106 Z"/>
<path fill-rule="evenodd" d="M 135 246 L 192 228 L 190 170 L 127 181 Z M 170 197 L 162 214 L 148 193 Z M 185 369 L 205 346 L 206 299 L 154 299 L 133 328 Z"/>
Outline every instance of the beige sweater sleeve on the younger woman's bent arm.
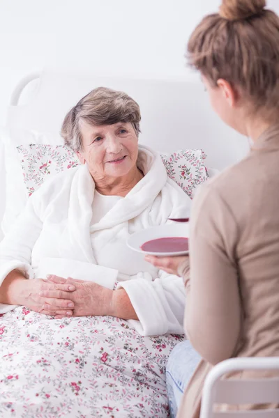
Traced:
<path fill-rule="evenodd" d="M 193 203 L 190 270 L 185 265 L 185 328 L 197 352 L 211 364 L 232 357 L 241 327 L 236 265 L 238 228 L 229 206 L 212 185 Z"/>

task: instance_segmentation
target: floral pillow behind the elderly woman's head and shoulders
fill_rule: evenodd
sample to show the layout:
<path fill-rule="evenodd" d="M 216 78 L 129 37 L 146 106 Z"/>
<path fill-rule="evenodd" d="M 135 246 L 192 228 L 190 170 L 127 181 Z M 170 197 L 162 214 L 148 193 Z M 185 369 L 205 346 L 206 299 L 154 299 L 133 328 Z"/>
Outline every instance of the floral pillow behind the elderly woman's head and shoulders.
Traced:
<path fill-rule="evenodd" d="M 63 145 L 30 144 L 17 146 L 24 183 L 29 196 L 45 181 L 60 171 L 80 164 L 70 148 Z M 172 178 L 193 198 L 195 189 L 208 178 L 204 165 L 206 155 L 202 150 L 179 150 L 171 155 L 161 155 L 167 176 Z"/>

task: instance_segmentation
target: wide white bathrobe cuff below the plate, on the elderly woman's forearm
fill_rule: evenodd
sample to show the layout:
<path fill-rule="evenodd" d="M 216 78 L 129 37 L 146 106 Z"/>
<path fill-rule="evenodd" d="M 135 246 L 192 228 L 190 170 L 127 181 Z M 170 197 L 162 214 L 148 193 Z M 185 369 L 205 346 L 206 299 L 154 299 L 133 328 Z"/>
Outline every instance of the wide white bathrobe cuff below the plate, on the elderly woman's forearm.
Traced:
<path fill-rule="evenodd" d="M 181 277 L 159 271 L 155 280 L 140 277 L 120 282 L 128 293 L 139 320 L 129 320 L 143 336 L 183 334 L 185 289 Z M 150 275 L 150 274 L 149 274 Z"/>

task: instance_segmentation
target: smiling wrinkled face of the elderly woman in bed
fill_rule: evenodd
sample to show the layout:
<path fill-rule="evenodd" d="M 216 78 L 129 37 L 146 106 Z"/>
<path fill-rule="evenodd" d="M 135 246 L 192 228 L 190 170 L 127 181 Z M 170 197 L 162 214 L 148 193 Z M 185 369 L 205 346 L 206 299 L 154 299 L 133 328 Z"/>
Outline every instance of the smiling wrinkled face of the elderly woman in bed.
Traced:
<path fill-rule="evenodd" d="M 82 123 L 83 149 L 80 162 L 89 167 L 93 178 L 125 176 L 137 163 L 137 135 L 131 123 L 88 125 Z"/>

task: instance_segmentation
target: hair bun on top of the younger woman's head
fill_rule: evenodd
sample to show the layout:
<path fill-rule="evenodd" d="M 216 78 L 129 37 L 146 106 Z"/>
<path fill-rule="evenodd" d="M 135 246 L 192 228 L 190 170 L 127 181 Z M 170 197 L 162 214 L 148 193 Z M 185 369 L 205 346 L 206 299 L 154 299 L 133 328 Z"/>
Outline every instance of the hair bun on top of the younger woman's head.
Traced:
<path fill-rule="evenodd" d="M 266 0 L 223 0 L 219 15 L 227 20 L 248 19 L 262 13 Z"/>

